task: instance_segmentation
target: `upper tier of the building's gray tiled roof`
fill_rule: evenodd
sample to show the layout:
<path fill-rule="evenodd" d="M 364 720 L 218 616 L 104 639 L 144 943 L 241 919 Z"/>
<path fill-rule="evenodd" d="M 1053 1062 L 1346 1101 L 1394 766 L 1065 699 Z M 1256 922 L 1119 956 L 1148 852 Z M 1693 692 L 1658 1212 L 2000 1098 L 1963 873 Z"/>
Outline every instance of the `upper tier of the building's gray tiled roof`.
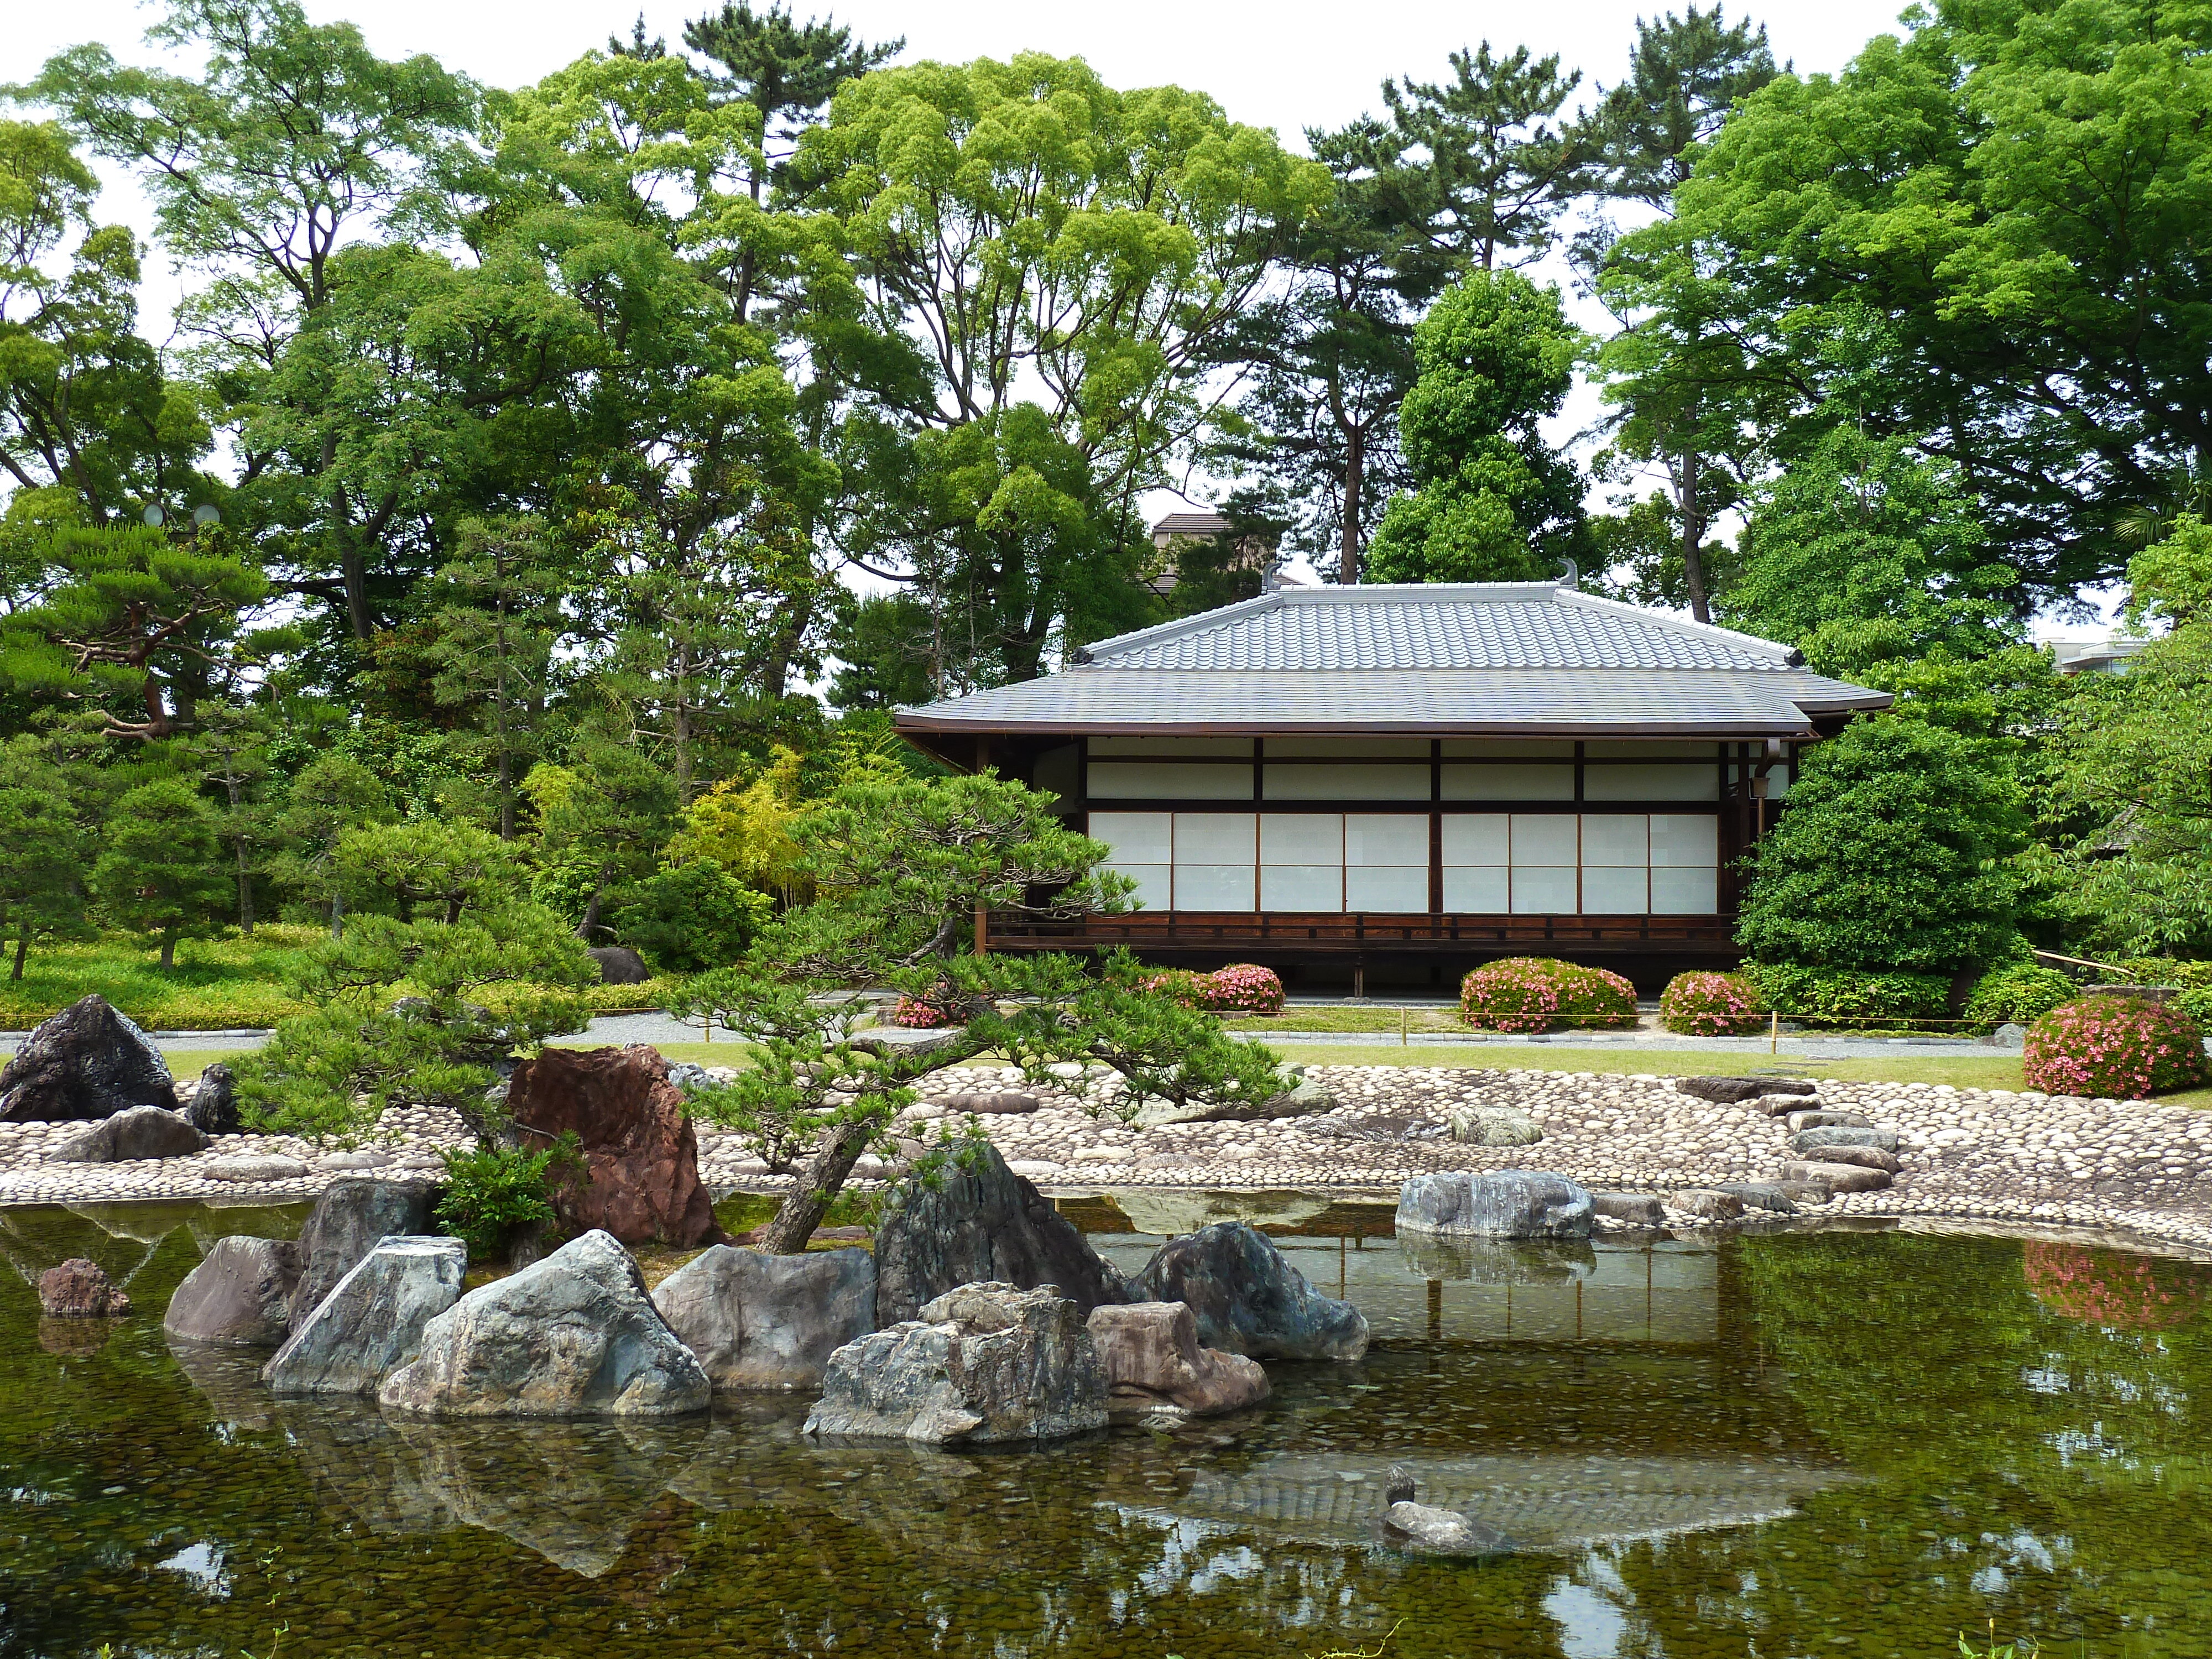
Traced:
<path fill-rule="evenodd" d="M 1270 593 L 1088 648 L 1102 668 L 1785 668 L 1770 639 L 1551 582 Z"/>

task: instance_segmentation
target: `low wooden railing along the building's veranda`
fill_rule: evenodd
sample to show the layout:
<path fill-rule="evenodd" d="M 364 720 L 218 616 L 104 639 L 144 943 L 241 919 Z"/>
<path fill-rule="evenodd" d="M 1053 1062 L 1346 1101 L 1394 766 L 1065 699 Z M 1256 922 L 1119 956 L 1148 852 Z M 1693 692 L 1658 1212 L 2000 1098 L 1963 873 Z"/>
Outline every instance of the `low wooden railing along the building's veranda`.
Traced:
<path fill-rule="evenodd" d="M 1405 916 L 1394 911 L 1128 911 L 1044 922 L 993 914 L 993 951 L 1599 951 L 1734 956 L 1734 916 Z"/>

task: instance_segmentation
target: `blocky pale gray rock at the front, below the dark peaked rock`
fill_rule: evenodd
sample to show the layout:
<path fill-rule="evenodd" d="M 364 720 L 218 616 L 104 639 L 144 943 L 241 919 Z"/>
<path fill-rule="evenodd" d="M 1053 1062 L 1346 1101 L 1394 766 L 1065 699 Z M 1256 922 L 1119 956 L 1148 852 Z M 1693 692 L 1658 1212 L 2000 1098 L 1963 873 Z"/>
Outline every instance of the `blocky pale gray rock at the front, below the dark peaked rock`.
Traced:
<path fill-rule="evenodd" d="M 830 1356 L 812 1436 L 1060 1440 L 1106 1427 L 1106 1367 L 1053 1285 L 960 1285 Z"/>

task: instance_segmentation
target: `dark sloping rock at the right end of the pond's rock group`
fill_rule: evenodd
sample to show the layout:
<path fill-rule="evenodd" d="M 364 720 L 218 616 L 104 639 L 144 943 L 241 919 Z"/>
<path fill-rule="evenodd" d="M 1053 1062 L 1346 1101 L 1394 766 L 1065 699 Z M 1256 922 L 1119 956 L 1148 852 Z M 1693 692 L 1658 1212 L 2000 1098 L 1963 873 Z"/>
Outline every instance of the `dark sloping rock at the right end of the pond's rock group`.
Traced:
<path fill-rule="evenodd" d="M 1199 1343 L 1261 1360 L 1356 1360 L 1367 1318 L 1323 1296 L 1274 1241 L 1245 1221 L 1168 1239 L 1139 1283 L 1159 1303 L 1190 1303 Z"/>

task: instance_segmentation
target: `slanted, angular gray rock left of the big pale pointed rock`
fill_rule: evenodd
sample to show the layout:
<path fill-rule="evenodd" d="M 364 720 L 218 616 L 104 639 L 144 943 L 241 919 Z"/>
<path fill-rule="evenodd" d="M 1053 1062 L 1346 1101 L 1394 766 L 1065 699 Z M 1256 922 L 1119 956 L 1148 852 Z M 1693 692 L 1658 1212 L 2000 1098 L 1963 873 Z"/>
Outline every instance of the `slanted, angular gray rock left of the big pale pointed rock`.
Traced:
<path fill-rule="evenodd" d="M 276 1394 L 369 1394 L 416 1356 L 422 1327 L 460 1298 L 460 1239 L 383 1239 L 261 1367 Z"/>

